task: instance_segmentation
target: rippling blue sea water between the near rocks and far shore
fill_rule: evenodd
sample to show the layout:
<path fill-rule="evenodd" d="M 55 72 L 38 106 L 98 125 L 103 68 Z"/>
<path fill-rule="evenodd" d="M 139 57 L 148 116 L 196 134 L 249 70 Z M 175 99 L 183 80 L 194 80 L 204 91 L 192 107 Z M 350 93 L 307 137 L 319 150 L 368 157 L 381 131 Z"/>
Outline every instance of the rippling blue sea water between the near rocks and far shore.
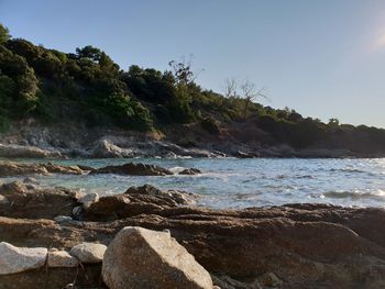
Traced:
<path fill-rule="evenodd" d="M 44 163 L 42 159 L 18 159 Z M 199 168 L 198 176 L 138 177 L 118 175 L 34 176 L 41 186 L 95 191 L 101 196 L 124 192 L 131 186 L 150 184 L 161 189 L 195 192 L 198 205 L 248 208 L 295 202 L 332 203 L 343 207 L 385 207 L 385 158 L 296 159 L 296 158 L 196 158 L 196 159 L 66 159 L 62 165 L 91 167 L 128 162 L 155 164 L 177 173 Z M 6 182 L 18 178 L 0 178 Z"/>

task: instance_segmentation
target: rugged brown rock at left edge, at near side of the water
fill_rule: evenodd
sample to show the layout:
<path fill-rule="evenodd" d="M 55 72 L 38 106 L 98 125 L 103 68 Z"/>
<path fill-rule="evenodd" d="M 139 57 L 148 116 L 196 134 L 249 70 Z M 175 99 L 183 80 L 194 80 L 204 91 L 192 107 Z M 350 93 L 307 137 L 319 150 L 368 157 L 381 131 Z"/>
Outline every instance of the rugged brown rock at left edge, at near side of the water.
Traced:
<path fill-rule="evenodd" d="M 0 215 L 29 219 L 54 219 L 72 215 L 77 192 L 64 188 L 31 188 L 20 181 L 0 186 Z M 1 200 L 0 199 L 0 200 Z"/>

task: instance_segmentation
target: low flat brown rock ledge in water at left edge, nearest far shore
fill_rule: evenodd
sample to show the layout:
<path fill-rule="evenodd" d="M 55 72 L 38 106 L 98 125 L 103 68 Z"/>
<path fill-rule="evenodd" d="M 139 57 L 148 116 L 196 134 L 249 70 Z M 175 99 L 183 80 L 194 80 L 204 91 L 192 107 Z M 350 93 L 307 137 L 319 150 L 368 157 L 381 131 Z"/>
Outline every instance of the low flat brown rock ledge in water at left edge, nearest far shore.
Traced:
<path fill-rule="evenodd" d="M 81 175 L 85 171 L 78 166 L 61 166 L 51 163 L 47 164 L 20 164 L 13 162 L 0 163 L 0 177 L 11 177 L 31 174 L 72 174 Z"/>

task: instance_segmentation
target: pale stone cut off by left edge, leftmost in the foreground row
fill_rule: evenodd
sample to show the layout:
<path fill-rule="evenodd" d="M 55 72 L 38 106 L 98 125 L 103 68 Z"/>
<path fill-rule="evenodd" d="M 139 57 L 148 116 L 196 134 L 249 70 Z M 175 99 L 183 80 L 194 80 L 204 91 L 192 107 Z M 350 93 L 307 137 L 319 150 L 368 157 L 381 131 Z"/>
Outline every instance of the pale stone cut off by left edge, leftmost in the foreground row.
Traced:
<path fill-rule="evenodd" d="M 15 247 L 0 243 L 0 275 L 21 273 L 42 267 L 45 264 L 47 249 L 42 247 Z"/>

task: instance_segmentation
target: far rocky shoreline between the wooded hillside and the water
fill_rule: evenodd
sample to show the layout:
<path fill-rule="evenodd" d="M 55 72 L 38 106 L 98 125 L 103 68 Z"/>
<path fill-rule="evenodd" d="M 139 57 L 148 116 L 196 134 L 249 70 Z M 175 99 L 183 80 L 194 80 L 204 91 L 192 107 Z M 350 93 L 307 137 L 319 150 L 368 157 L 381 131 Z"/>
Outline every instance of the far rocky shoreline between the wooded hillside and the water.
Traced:
<path fill-rule="evenodd" d="M 184 129 L 186 130 L 186 129 Z M 199 158 L 199 157 L 299 157 L 346 158 L 384 157 L 384 153 L 358 153 L 343 148 L 307 147 L 286 144 L 239 142 L 233 138 L 202 136 L 190 142 L 184 131 L 169 136 L 108 129 L 73 126 L 15 126 L 1 133 L 0 157 L 7 158 Z M 194 132 L 189 132 L 189 134 Z"/>

